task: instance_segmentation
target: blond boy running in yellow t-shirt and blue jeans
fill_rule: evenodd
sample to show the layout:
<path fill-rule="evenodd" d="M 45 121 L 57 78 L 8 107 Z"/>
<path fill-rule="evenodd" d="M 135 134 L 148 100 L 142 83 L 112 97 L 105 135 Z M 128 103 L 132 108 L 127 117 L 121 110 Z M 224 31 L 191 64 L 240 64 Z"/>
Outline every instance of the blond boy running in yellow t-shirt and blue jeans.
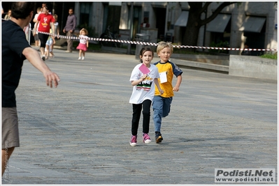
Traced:
<path fill-rule="evenodd" d="M 155 126 L 155 139 L 156 143 L 161 143 L 163 140 L 161 134 L 161 125 L 162 118 L 169 115 L 171 111 L 171 102 L 173 100 L 173 91 L 179 91 L 179 86 L 182 82 L 182 73 L 183 71 L 178 68 L 175 63 L 169 61 L 171 54 L 173 54 L 173 45 L 171 42 L 161 41 L 157 46 L 157 55 L 160 58 L 160 61 L 154 63 L 160 73 L 160 86 L 164 90 L 164 93 L 161 95 L 159 90 L 155 89 L 155 96 L 153 98 L 153 121 Z M 173 87 L 173 75 L 176 75 L 178 78 L 176 86 Z"/>

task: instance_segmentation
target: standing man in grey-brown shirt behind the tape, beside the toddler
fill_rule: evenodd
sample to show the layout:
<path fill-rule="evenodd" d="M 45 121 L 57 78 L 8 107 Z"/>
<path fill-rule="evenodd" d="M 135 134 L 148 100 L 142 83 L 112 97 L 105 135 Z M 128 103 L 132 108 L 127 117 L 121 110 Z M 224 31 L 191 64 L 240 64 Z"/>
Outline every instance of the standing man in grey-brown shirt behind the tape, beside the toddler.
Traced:
<path fill-rule="evenodd" d="M 66 52 L 73 51 L 73 39 L 70 37 L 73 36 L 73 32 L 76 29 L 76 15 L 73 14 L 73 8 L 69 9 L 69 15 L 67 17 L 66 26 L 63 29 L 63 32 L 66 33 L 67 38 L 67 50 Z"/>

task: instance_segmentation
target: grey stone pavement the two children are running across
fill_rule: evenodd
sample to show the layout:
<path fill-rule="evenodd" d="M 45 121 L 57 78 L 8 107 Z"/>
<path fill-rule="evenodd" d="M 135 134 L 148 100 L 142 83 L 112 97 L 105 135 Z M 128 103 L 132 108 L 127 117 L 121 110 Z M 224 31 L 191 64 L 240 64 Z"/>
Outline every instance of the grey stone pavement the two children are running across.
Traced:
<path fill-rule="evenodd" d="M 143 144 L 140 125 L 131 147 L 135 56 L 87 52 L 77 59 L 78 52 L 55 49 L 45 61 L 61 78 L 58 88 L 24 62 L 16 91 L 21 146 L 3 185 L 211 185 L 217 168 L 277 173 L 276 82 L 183 68 L 162 144 L 151 119 L 151 144 Z"/>

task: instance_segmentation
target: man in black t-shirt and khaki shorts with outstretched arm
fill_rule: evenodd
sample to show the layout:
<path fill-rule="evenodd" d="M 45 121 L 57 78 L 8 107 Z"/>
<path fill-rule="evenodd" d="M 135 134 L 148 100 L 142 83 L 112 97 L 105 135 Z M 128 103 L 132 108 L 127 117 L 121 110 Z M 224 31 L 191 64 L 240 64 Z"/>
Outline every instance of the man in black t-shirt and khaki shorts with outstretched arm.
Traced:
<path fill-rule="evenodd" d="M 2 123 L 1 123 L 1 171 L 2 176 L 8 166 L 8 160 L 15 147 L 20 146 L 15 89 L 20 83 L 23 61 L 27 59 L 43 73 L 50 88 L 58 86 L 59 76 L 48 68 L 38 52 L 25 38 L 24 26 L 29 25 L 34 15 L 33 2 L 14 2 L 12 18 L 2 22 Z"/>

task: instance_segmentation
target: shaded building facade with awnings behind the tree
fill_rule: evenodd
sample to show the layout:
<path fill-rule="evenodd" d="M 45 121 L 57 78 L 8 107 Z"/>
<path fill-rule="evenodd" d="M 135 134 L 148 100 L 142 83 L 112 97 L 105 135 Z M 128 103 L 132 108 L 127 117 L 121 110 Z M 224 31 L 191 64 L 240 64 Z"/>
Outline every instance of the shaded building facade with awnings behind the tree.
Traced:
<path fill-rule="evenodd" d="M 210 3 L 201 19 L 212 15 L 220 3 Z M 8 4 L 10 2 L 2 2 L 6 9 Z M 37 6 L 41 6 L 41 2 Z M 109 28 L 115 35 L 120 33 L 122 40 L 141 38 L 155 43 L 165 40 L 175 45 L 187 45 L 182 42 L 190 8 L 185 1 L 58 1 L 53 3 L 52 13 L 58 15 L 61 28 L 66 24 L 70 7 L 74 8 L 78 29 L 90 28 L 90 37 L 99 38 Z M 247 43 L 252 49 L 278 49 L 277 18 L 275 1 L 234 3 L 223 8 L 212 22 L 201 26 L 196 45 L 243 48 Z M 241 54 L 241 51 L 227 53 Z"/>

